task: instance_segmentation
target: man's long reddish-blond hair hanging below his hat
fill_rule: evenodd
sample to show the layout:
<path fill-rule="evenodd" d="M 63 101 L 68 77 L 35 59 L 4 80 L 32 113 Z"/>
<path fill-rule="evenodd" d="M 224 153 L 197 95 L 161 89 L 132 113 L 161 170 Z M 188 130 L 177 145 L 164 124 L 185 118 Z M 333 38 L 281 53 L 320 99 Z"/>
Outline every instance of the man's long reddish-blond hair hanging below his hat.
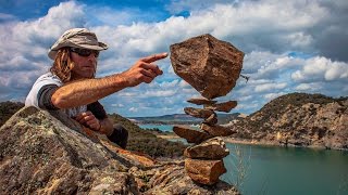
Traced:
<path fill-rule="evenodd" d="M 57 52 L 54 62 L 50 72 L 53 75 L 57 75 L 63 83 L 69 82 L 72 77 L 72 69 L 74 68 L 75 63 L 70 56 L 69 48 L 60 49 Z"/>

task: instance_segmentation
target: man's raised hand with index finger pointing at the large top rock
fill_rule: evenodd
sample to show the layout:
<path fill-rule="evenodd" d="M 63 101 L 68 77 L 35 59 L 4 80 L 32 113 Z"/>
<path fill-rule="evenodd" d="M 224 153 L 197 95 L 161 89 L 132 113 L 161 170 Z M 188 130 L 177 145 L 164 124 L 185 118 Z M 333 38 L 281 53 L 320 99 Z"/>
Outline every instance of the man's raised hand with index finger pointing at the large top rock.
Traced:
<path fill-rule="evenodd" d="M 128 87 L 135 87 L 141 82 L 150 83 L 157 76 L 163 74 L 153 62 L 165 58 L 166 56 L 167 53 L 159 53 L 142 57 L 121 75 L 128 82 Z"/>

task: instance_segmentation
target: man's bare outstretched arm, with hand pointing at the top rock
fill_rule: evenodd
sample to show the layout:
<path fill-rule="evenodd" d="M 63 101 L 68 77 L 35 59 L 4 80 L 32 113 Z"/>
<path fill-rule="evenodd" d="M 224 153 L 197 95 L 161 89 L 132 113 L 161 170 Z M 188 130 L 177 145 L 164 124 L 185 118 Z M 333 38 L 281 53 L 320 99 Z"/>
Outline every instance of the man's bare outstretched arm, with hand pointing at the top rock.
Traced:
<path fill-rule="evenodd" d="M 51 98 L 52 104 L 58 108 L 87 105 L 127 87 L 135 87 L 141 82 L 149 83 L 162 75 L 162 70 L 152 62 L 166 56 L 167 53 L 147 56 L 121 74 L 66 83 L 54 91 Z"/>

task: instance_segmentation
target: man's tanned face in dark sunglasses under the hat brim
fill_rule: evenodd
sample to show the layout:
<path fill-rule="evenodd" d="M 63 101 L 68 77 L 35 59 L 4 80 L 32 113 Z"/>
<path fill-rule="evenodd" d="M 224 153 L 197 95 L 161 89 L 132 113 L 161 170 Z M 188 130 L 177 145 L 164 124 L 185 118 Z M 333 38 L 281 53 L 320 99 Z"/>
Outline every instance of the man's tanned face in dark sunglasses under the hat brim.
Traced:
<path fill-rule="evenodd" d="M 72 79 L 94 78 L 97 69 L 97 60 L 95 52 L 88 56 L 83 56 L 74 51 L 71 52 L 71 58 L 75 63 L 72 69 Z"/>

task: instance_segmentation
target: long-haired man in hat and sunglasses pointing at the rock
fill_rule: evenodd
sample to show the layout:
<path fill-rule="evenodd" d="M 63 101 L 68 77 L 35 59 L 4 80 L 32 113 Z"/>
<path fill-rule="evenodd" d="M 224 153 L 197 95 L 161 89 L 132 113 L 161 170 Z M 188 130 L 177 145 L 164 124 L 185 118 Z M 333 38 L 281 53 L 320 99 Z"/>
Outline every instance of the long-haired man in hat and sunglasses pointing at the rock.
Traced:
<path fill-rule="evenodd" d="M 36 80 L 25 105 L 62 109 L 83 126 L 104 133 L 125 148 L 127 131 L 122 126 L 113 127 L 98 100 L 141 82 L 151 82 L 162 75 L 153 62 L 166 57 L 167 53 L 140 58 L 121 74 L 95 78 L 99 52 L 107 49 L 108 46 L 86 28 L 65 31 L 49 50 L 48 56 L 54 61 L 50 72 Z"/>

